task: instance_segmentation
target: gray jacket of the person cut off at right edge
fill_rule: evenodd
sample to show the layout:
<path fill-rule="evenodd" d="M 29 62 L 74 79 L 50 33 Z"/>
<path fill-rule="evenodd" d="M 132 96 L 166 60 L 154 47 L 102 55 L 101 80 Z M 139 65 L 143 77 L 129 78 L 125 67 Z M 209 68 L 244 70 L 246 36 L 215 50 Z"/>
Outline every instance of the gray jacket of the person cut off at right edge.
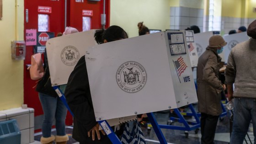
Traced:
<path fill-rule="evenodd" d="M 256 99 L 256 39 L 237 44 L 229 53 L 226 84 L 235 83 L 235 97 Z"/>

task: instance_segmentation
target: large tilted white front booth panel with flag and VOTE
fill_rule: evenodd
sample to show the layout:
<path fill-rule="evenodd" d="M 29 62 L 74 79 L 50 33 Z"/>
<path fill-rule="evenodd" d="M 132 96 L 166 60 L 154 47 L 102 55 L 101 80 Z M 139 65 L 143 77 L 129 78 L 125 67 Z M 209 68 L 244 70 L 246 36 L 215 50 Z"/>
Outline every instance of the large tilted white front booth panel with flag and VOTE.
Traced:
<path fill-rule="evenodd" d="M 96 45 L 85 61 L 96 121 L 197 101 L 184 31 Z"/>

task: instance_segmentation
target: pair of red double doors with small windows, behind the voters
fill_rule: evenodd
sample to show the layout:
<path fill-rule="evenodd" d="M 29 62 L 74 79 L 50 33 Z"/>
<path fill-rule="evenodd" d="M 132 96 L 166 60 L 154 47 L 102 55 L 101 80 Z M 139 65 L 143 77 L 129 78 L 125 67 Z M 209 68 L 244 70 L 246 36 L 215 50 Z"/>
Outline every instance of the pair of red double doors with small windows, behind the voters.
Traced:
<path fill-rule="evenodd" d="M 64 32 L 65 0 L 24 0 L 26 29 L 37 29 L 37 32 Z M 90 0 L 67 0 L 67 26 L 75 27 L 79 32 L 101 28 L 103 2 Z M 109 27 L 110 0 L 106 0 L 106 28 Z M 26 14 L 27 13 L 27 14 Z M 27 17 L 28 16 L 28 17 Z M 26 65 L 31 64 L 33 46 L 27 46 L 24 60 L 24 104 L 35 109 L 35 132 L 40 131 L 43 121 L 43 110 L 35 88 L 37 80 L 30 79 Z M 73 118 L 68 112 L 66 125 L 72 125 Z"/>

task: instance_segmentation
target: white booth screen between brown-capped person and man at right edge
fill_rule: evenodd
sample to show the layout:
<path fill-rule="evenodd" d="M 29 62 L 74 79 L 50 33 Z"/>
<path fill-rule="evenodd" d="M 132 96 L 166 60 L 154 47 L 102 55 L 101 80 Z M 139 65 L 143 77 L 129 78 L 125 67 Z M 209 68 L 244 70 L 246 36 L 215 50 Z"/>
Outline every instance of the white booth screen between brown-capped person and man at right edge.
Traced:
<path fill-rule="evenodd" d="M 236 44 L 249 40 L 247 32 L 234 33 L 227 36 L 223 36 L 223 38 L 228 43 L 226 46 L 223 47 L 225 63 L 228 62 L 229 53 L 231 52 L 231 49 L 235 47 Z"/>

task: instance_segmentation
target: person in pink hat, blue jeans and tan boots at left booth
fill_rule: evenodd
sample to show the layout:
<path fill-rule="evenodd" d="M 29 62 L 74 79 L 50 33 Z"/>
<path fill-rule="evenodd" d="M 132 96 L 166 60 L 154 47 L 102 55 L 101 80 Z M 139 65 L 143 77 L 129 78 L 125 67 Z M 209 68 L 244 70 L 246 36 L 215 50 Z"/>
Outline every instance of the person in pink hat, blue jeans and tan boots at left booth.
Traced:
<path fill-rule="evenodd" d="M 73 27 L 66 27 L 63 35 L 75 32 L 78 32 L 78 30 Z M 57 36 L 62 36 L 62 34 L 58 33 Z M 65 133 L 65 119 L 67 115 L 67 108 L 51 85 L 46 50 L 44 53 L 44 75 L 43 78 L 38 81 L 36 91 L 38 92 L 39 99 L 43 108 L 43 136 L 40 139 L 41 143 L 53 144 L 54 140 L 56 144 L 66 144 L 66 142 L 69 140 L 69 136 Z M 51 135 L 54 118 L 56 119 L 55 126 L 57 136 Z"/>

